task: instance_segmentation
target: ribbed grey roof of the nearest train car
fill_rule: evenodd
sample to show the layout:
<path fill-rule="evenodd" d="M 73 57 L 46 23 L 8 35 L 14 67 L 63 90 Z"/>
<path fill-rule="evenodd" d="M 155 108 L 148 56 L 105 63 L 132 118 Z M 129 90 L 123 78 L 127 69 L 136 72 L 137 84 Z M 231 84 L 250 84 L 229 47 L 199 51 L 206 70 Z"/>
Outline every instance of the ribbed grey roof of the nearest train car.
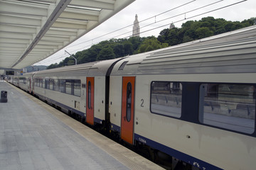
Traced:
<path fill-rule="evenodd" d="M 132 55 L 112 75 L 256 72 L 256 26 Z"/>

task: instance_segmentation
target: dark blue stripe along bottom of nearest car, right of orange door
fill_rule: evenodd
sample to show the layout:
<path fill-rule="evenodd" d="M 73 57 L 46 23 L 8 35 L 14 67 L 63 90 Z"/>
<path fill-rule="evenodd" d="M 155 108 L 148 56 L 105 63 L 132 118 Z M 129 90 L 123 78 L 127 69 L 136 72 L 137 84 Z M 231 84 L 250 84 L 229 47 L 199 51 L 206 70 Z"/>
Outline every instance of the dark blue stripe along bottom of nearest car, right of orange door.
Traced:
<path fill-rule="evenodd" d="M 138 135 L 136 133 L 134 133 L 134 139 L 139 141 L 139 142 L 142 142 L 146 145 L 149 145 L 150 147 L 152 147 L 154 149 L 158 149 L 161 152 L 169 154 L 169 155 L 175 157 L 176 159 L 180 159 L 183 162 L 186 162 L 188 164 L 196 166 L 200 169 L 203 169 L 203 170 L 209 170 L 209 169 L 210 170 L 212 170 L 212 169 L 223 170 L 223 169 L 220 169 L 220 168 L 218 168 L 218 167 L 216 167 L 212 164 L 208 164 L 207 162 L 203 162 L 200 159 L 196 159 L 195 157 L 191 157 L 188 154 L 184 154 L 183 152 L 179 152 L 176 149 L 171 149 L 170 147 L 166 147 L 165 145 L 161 145 L 158 142 L 154 142 L 153 140 L 149 140 L 148 138 L 143 137 L 141 135 Z"/>

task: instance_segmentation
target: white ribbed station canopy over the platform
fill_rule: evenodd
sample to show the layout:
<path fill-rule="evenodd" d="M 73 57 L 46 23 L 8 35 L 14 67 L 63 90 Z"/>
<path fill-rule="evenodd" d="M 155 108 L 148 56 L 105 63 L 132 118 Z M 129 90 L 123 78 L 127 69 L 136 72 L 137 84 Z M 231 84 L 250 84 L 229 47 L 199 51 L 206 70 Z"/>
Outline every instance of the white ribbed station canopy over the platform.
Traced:
<path fill-rule="evenodd" d="M 46 59 L 134 0 L 0 0 L 0 69 Z"/>

